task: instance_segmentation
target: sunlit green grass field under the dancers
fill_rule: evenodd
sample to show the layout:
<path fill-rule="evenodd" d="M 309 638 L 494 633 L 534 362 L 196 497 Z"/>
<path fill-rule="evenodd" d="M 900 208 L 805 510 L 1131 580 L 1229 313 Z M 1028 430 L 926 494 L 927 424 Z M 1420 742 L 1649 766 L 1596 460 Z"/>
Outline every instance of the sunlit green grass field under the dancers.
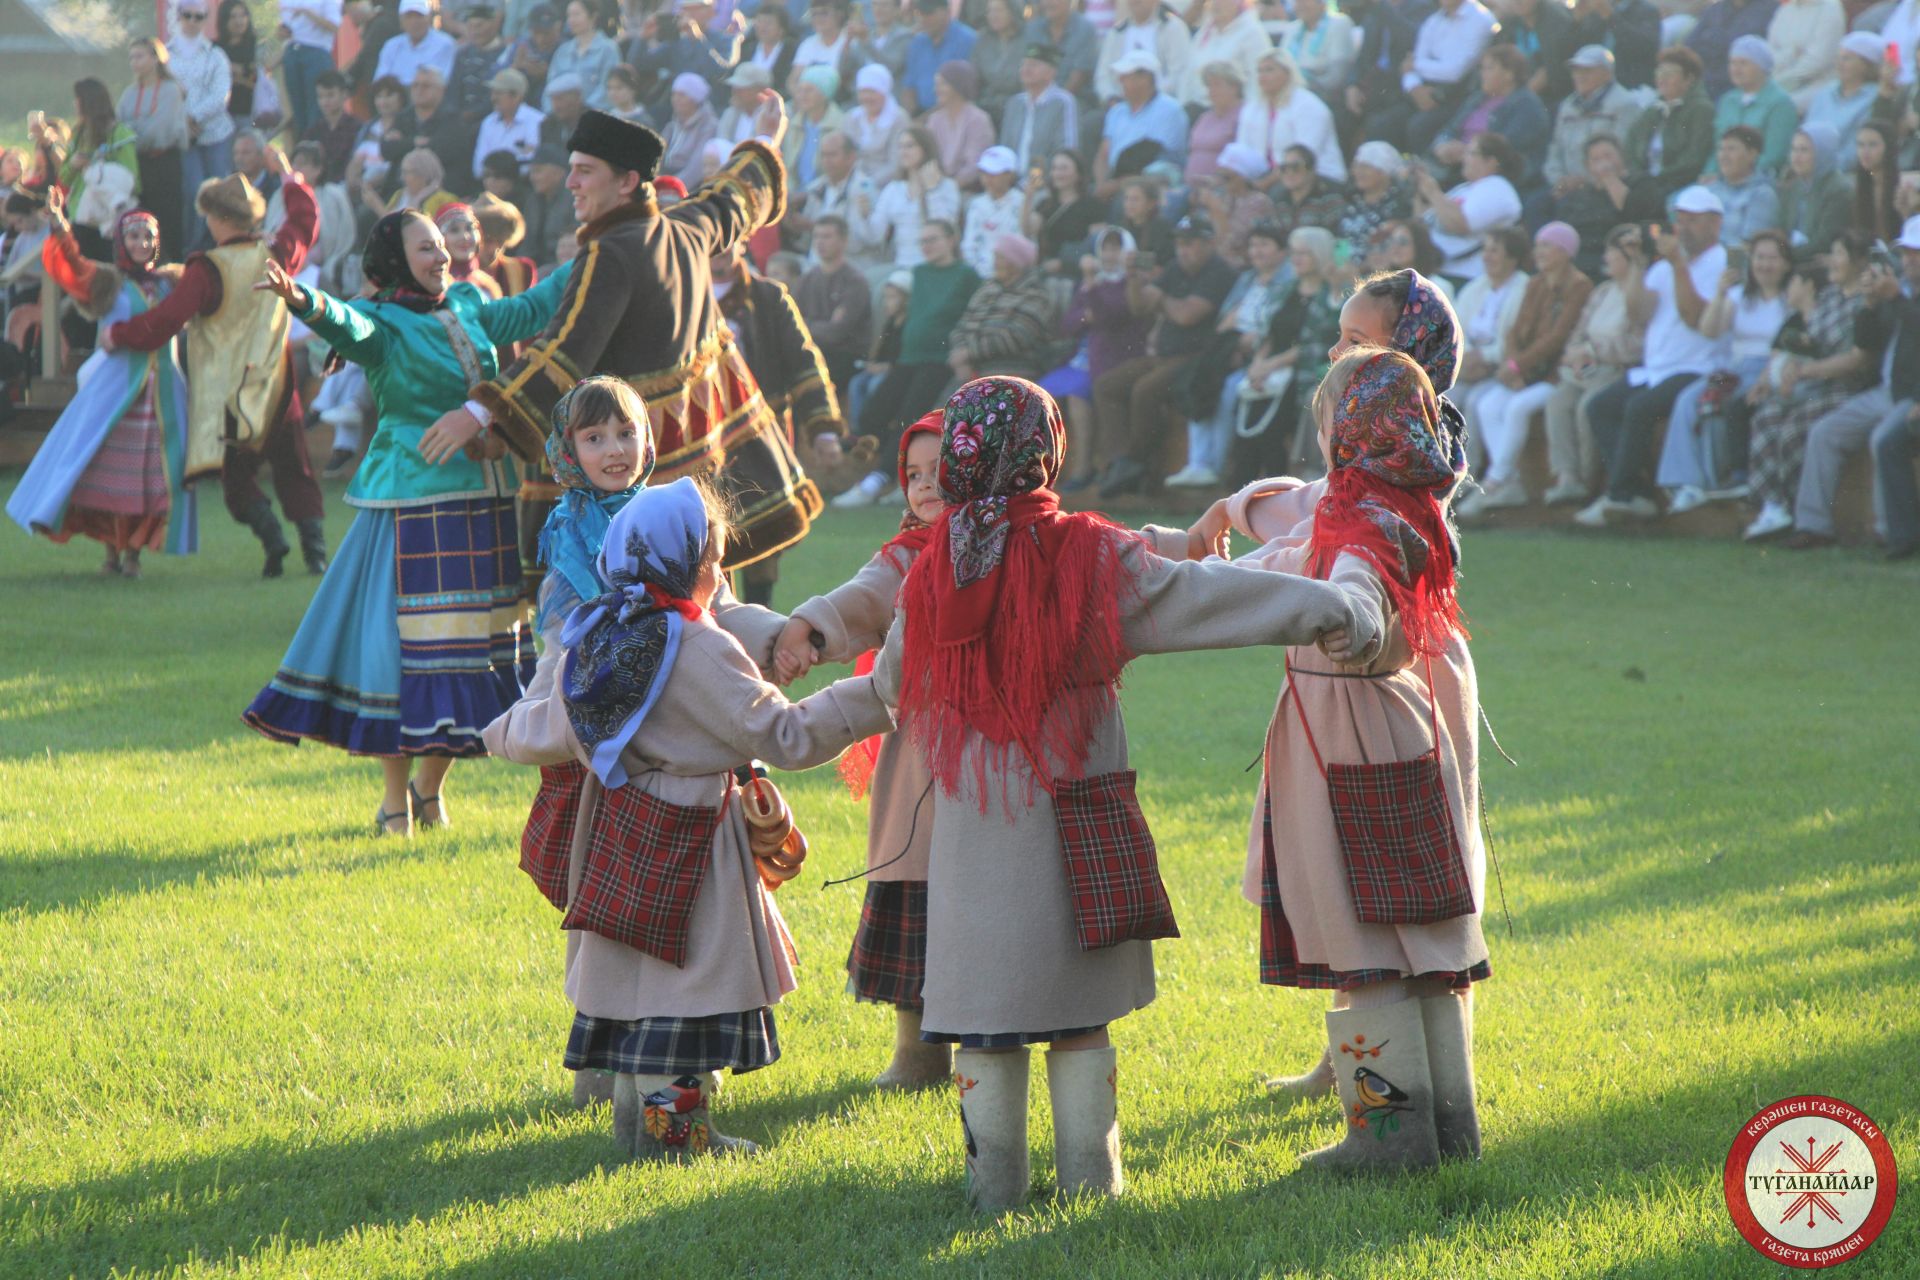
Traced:
<path fill-rule="evenodd" d="M 0 484 L 10 487 L 10 482 Z M 240 708 L 311 580 L 207 553 L 92 576 L 0 555 L 0 1276 L 1763 1276 L 1720 1165 L 1834 1094 L 1920 1174 L 1920 572 L 1864 553 L 1484 533 L 1467 547 L 1511 933 L 1478 1002 L 1486 1157 L 1331 1184 L 1332 1103 L 1261 1073 L 1325 998 L 1261 988 L 1238 896 L 1279 654 L 1167 656 L 1125 693 L 1183 938 L 1116 1027 L 1129 1192 L 977 1221 L 952 1094 L 877 1098 L 889 1019 L 841 990 L 864 812 L 789 781 L 785 1057 L 722 1123 L 753 1161 L 616 1159 L 566 1105 L 557 915 L 515 869 L 530 771 L 463 764 L 455 829 L 378 841 L 371 762 Z M 346 509 L 332 507 L 334 541 Z M 891 516 L 835 514 L 781 601 Z M 1050 1123 L 1035 1065 L 1035 1174 Z M 1849 1280 L 1920 1270 L 1908 1192 Z"/>

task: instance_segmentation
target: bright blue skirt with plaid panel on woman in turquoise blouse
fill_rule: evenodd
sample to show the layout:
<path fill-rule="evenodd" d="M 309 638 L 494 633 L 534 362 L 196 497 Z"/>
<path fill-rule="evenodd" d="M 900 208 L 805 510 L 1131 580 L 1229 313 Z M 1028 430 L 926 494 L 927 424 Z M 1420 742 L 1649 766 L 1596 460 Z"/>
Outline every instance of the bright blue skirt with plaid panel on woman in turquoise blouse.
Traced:
<path fill-rule="evenodd" d="M 484 756 L 534 676 L 511 497 L 363 509 L 246 722 L 355 756 Z"/>

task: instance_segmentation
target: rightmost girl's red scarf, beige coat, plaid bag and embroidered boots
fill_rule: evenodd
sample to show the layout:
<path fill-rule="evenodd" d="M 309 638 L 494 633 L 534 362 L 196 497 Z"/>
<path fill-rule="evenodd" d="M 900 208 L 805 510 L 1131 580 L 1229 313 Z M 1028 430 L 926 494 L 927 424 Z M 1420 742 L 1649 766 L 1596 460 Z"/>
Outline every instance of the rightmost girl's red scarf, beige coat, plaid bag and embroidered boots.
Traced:
<path fill-rule="evenodd" d="M 1382 643 L 1359 666 L 1288 651 L 1242 892 L 1260 906 L 1261 981 L 1342 990 L 1352 1006 L 1327 1015 L 1348 1138 L 1308 1159 L 1419 1167 L 1478 1155 L 1457 992 L 1490 969 L 1484 879 L 1467 856 L 1475 793 L 1442 714 L 1457 693 L 1438 677 L 1463 649 L 1446 514 L 1457 472 L 1409 357 L 1359 367 L 1331 453 L 1309 537 L 1261 562 L 1325 578 Z"/>

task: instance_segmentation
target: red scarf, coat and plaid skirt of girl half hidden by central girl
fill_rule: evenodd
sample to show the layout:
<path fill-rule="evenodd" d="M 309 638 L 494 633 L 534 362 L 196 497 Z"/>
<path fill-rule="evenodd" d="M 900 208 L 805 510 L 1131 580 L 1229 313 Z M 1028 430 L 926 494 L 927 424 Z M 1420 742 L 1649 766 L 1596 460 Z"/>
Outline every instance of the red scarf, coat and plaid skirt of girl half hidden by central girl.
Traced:
<path fill-rule="evenodd" d="M 906 491 L 906 447 L 920 436 L 941 436 L 943 411 L 933 411 L 900 438 L 900 491 Z M 933 530 L 914 514 L 852 580 L 803 603 L 793 616 L 814 629 L 822 662 L 874 668 L 887 643 L 893 608 L 906 572 L 925 551 Z M 841 777 L 856 800 L 868 802 L 866 902 L 847 954 L 847 990 L 856 1000 L 895 1007 L 893 1061 L 874 1080 L 879 1088 L 914 1088 L 945 1080 L 950 1050 L 920 1038 L 920 988 L 927 977 L 927 850 L 933 844 L 933 773 L 925 758 L 899 733 L 854 743 L 841 756 Z"/>

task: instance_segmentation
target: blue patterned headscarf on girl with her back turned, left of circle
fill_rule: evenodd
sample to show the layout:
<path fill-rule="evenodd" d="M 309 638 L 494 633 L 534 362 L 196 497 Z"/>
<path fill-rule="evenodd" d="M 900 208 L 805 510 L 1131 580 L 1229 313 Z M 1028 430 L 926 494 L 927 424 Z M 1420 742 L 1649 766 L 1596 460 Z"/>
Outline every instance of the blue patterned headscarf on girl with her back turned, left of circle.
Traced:
<path fill-rule="evenodd" d="M 685 622 L 703 612 L 689 597 L 705 551 L 699 486 L 676 480 L 632 495 L 599 553 L 607 591 L 582 601 L 561 631 L 566 722 L 607 787 L 626 785 L 620 752 L 660 700 Z"/>

